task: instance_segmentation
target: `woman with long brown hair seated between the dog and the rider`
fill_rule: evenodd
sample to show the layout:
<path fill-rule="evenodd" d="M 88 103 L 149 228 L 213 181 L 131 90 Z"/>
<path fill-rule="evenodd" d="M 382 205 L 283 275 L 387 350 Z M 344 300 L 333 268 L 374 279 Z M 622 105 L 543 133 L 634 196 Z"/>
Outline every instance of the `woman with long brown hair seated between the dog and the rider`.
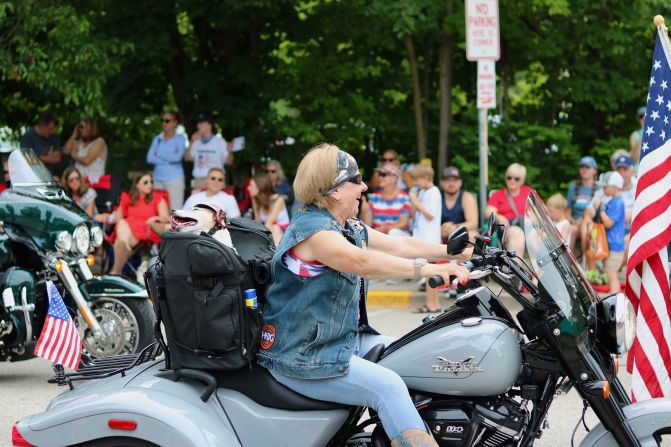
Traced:
<path fill-rule="evenodd" d="M 254 219 L 263 223 L 273 234 L 275 245 L 280 243 L 284 230 L 289 226 L 289 213 L 284 198 L 275 192 L 268 174 L 256 174 L 249 182 Z"/>

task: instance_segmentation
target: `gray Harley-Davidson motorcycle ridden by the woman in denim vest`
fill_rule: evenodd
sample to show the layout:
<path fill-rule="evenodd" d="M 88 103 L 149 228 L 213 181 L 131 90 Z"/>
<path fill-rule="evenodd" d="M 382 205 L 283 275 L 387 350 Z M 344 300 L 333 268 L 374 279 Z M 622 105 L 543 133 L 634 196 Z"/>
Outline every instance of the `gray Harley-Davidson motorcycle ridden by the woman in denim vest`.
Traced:
<path fill-rule="evenodd" d="M 671 400 L 632 404 L 617 379 L 618 356 L 634 339 L 631 304 L 622 294 L 599 299 L 536 194 L 524 217 L 530 265 L 491 247 L 492 234 L 469 241 L 456 230 L 449 252 L 475 247 L 455 305 L 366 358 L 403 378 L 440 446 L 531 446 L 553 397 L 571 387 L 600 420 L 582 446 L 658 445 L 671 433 Z M 505 228 L 496 231 L 502 240 Z M 521 304 L 516 318 L 490 281 Z M 160 352 L 152 345 L 139 356 L 84 362 L 75 374 L 59 371 L 54 381 L 71 389 L 18 421 L 15 445 L 389 445 L 374 411 L 309 399 L 258 366 L 166 369 Z"/>

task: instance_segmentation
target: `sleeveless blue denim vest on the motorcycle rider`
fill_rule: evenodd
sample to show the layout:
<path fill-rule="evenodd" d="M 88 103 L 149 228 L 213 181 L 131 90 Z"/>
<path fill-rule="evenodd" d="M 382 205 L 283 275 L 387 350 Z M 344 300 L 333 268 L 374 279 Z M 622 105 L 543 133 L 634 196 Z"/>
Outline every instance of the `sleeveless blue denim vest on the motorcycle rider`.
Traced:
<path fill-rule="evenodd" d="M 258 354 L 260 365 L 290 377 L 346 374 L 357 331 L 375 332 L 368 326 L 365 300 L 359 299 L 362 284 L 365 297 L 367 280 L 331 268 L 318 276 L 299 276 L 282 264 L 291 247 L 318 231 L 337 231 L 362 248 L 368 242 L 359 219 L 348 220 L 343 228 L 331 213 L 312 205 L 294 214 L 273 257 Z"/>

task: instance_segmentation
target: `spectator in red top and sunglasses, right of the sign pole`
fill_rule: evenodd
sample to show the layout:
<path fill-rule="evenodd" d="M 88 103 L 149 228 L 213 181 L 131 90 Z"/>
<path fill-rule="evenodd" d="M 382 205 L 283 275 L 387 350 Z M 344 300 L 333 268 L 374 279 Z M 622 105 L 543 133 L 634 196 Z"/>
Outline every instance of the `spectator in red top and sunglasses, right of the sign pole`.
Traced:
<path fill-rule="evenodd" d="M 506 226 L 504 244 L 507 250 L 524 255 L 524 210 L 533 189 L 524 184 L 527 168 L 513 163 L 506 169 L 506 186 L 494 191 L 485 208 L 485 217 L 495 212 L 498 222 Z"/>

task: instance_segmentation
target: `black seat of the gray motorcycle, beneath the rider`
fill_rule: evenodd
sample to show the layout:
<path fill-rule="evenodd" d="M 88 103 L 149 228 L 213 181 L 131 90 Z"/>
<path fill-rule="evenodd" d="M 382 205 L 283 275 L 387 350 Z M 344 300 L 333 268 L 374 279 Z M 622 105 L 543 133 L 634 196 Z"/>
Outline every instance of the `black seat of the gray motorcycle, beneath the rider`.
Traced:
<path fill-rule="evenodd" d="M 316 400 L 299 394 L 280 382 L 262 366 L 254 363 L 252 368 L 234 371 L 212 372 L 217 386 L 238 391 L 259 405 L 291 411 L 336 410 L 349 405 Z"/>

